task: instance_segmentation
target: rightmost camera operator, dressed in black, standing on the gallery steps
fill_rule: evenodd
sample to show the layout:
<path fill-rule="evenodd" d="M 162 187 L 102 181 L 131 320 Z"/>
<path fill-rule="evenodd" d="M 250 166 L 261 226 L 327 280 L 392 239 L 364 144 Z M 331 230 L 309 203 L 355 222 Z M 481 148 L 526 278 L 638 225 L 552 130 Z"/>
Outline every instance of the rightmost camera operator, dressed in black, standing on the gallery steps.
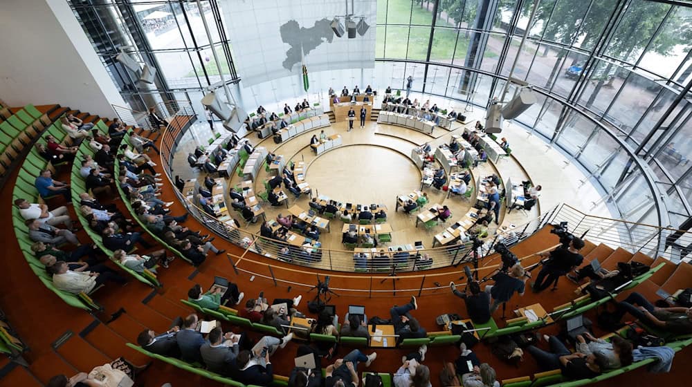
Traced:
<path fill-rule="evenodd" d="M 543 263 L 543 267 L 536 276 L 536 282 L 533 284 L 534 292 L 538 293 L 545 290 L 551 283 L 555 284 L 553 289 L 556 289 L 560 276 L 569 273 L 584 261 L 584 257 L 579 254 L 582 247 L 584 247 L 584 241 L 574 237 L 567 247 L 563 244 L 552 252 L 538 254 L 544 258 L 549 257 L 549 259 Z"/>

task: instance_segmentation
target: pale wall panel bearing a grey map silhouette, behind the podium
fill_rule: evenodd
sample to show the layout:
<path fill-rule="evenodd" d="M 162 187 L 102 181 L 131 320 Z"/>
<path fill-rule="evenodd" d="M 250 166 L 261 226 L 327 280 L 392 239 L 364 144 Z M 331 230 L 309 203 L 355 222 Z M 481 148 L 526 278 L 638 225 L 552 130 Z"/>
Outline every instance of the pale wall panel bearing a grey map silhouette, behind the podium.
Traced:
<path fill-rule="evenodd" d="M 300 75 L 302 56 L 310 73 L 374 67 L 376 0 L 355 0 L 354 10 L 348 1 L 349 13 L 370 25 L 355 39 L 331 30 L 337 15 L 345 26 L 344 0 L 223 0 L 221 6 L 235 67 L 246 87 Z"/>

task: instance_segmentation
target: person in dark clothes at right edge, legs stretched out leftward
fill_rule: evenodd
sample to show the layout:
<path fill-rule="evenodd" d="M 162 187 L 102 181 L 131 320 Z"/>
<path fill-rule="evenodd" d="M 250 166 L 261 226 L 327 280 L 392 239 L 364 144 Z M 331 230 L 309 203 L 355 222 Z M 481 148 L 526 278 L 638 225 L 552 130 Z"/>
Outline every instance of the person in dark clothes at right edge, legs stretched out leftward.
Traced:
<path fill-rule="evenodd" d="M 673 334 L 692 333 L 692 308 L 657 308 L 644 296 L 633 292 L 624 301 L 617 303 L 618 316 L 622 318 L 626 312 L 643 323 Z"/>

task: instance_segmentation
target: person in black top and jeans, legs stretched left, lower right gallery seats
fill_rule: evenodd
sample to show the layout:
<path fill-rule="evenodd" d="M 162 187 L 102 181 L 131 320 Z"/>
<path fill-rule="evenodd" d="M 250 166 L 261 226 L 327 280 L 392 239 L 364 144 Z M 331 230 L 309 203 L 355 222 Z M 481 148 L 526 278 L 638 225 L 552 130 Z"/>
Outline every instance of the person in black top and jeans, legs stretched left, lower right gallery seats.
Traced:
<path fill-rule="evenodd" d="M 550 352 L 536 346 L 526 348 L 542 370 L 560 368 L 563 376 L 569 379 L 592 379 L 601 375 L 601 370 L 607 365 L 607 361 L 599 353 L 572 353 L 557 337 L 544 335 L 543 338 L 548 342 Z"/>

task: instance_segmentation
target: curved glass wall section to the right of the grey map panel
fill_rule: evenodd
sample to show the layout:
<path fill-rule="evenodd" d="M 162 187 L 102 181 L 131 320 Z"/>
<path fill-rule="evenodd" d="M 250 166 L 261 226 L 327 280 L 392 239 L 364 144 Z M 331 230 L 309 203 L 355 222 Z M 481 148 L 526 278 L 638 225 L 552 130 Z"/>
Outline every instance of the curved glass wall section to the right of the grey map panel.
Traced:
<path fill-rule="evenodd" d="M 414 89 L 485 107 L 518 55 L 513 77 L 540 94 L 516 122 L 585 167 L 623 218 L 691 216 L 692 106 L 678 97 L 692 82 L 692 4 L 542 0 L 529 24 L 530 0 L 378 3 L 376 72 L 424 57 L 411 32 L 432 32 Z"/>

